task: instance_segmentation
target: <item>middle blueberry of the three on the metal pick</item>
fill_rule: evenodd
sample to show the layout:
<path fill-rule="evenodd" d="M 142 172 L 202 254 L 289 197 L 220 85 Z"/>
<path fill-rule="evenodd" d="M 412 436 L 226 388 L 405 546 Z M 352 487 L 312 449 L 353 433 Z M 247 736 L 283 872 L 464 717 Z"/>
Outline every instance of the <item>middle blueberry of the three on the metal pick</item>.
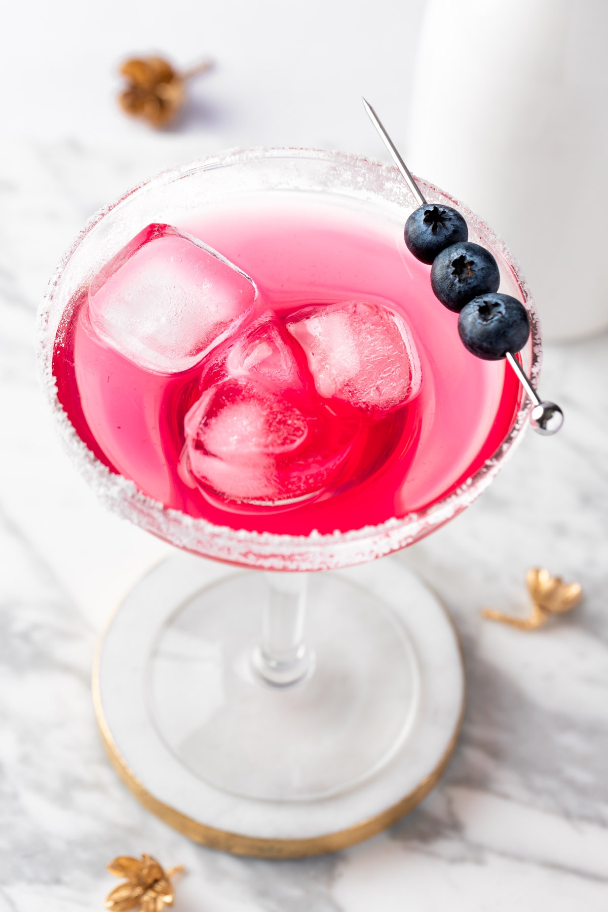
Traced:
<path fill-rule="evenodd" d="M 479 244 L 451 244 L 435 257 L 430 284 L 441 304 L 458 313 L 474 297 L 498 291 L 499 267 Z"/>

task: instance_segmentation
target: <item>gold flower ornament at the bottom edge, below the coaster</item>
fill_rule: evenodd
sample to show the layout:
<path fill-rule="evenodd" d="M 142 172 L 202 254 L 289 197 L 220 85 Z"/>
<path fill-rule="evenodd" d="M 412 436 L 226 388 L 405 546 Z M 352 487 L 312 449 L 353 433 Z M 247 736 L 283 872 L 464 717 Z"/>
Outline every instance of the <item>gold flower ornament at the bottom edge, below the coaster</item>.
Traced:
<path fill-rule="evenodd" d="M 139 909 L 139 912 L 163 912 L 166 906 L 173 905 L 173 885 L 171 877 L 183 871 L 183 865 L 163 871 L 156 858 L 141 855 L 131 858 L 119 855 L 108 865 L 110 874 L 126 877 L 124 884 L 115 887 L 106 897 L 105 906 L 113 912 L 128 912 Z"/>

